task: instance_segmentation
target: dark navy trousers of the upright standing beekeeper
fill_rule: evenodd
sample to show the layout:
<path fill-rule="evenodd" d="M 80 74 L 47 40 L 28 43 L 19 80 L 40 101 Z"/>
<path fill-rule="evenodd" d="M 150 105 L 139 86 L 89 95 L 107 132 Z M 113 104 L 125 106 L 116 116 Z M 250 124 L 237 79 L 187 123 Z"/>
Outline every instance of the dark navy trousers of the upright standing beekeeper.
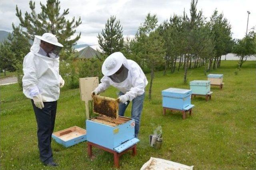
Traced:
<path fill-rule="evenodd" d="M 34 101 L 31 101 L 36 115 L 40 159 L 47 164 L 53 161 L 51 142 L 56 117 L 57 101 L 44 102 L 43 109 L 39 109 L 34 105 Z"/>

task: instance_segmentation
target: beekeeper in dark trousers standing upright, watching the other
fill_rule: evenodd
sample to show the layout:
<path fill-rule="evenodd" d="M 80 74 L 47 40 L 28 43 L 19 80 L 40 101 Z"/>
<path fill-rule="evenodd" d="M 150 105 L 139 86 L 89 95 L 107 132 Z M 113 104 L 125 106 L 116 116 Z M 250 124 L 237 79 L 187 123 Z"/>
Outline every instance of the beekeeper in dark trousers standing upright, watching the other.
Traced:
<path fill-rule="evenodd" d="M 51 136 L 60 87 L 64 86 L 59 74 L 58 55 L 62 47 L 51 33 L 35 36 L 30 52 L 23 61 L 23 93 L 32 101 L 40 160 L 47 166 L 57 166 L 52 158 Z"/>

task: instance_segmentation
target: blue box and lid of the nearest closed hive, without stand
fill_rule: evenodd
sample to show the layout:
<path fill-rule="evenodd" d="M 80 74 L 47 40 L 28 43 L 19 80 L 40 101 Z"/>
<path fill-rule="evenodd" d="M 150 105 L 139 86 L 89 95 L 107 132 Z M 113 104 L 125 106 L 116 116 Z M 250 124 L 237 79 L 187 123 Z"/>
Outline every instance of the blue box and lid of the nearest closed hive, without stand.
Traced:
<path fill-rule="evenodd" d="M 162 91 L 163 107 L 187 110 L 191 105 L 192 90 L 169 88 Z"/>

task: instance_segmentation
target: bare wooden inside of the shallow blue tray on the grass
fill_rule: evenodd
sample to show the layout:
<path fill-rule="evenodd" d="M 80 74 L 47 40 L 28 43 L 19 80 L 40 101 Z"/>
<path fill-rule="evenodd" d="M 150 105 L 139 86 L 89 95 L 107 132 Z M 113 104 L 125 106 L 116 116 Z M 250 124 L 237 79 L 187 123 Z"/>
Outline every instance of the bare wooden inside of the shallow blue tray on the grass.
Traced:
<path fill-rule="evenodd" d="M 69 141 L 74 138 L 86 135 L 86 130 L 77 126 L 66 128 L 58 132 L 52 133 L 52 135 L 60 138 L 63 141 Z"/>

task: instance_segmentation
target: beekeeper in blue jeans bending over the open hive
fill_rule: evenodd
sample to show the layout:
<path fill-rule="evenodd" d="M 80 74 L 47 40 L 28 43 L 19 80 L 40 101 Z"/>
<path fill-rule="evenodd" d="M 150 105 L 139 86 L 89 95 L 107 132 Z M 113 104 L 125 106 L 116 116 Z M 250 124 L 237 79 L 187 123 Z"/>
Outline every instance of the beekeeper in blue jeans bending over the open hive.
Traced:
<path fill-rule="evenodd" d="M 145 87 L 148 84 L 145 74 L 135 61 L 126 59 L 121 52 L 112 53 L 105 59 L 102 73 L 104 77 L 92 95 L 100 94 L 110 85 L 116 87 L 120 90 L 118 97 L 120 116 L 124 116 L 127 106 L 132 101 L 132 119 L 135 120 L 135 137 L 138 138 Z"/>

